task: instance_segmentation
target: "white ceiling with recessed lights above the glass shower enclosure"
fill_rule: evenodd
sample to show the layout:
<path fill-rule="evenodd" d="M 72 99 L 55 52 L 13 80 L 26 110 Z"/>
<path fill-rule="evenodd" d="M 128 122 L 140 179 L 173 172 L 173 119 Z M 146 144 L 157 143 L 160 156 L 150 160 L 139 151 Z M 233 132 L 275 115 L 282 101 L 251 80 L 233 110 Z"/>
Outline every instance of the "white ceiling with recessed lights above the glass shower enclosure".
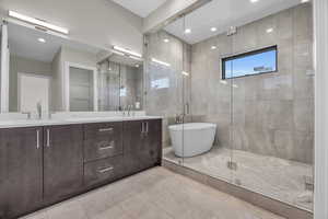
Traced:
<path fill-rule="evenodd" d="M 184 34 L 183 19 L 169 24 L 165 30 L 189 44 L 195 44 L 224 33 L 230 26 L 244 25 L 300 2 L 301 0 L 258 0 L 256 3 L 251 3 L 250 0 L 212 0 L 186 15 L 186 28 L 191 28 L 190 34 Z M 210 31 L 213 26 L 218 28 L 216 32 Z"/>

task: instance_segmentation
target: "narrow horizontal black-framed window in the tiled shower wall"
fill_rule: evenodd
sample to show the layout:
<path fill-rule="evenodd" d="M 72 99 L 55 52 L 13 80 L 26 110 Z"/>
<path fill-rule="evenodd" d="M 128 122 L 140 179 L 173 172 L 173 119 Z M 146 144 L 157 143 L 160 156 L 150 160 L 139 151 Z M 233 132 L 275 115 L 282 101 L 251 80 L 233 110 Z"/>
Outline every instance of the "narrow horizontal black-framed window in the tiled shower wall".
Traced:
<path fill-rule="evenodd" d="M 222 79 L 276 72 L 278 70 L 277 56 L 277 46 L 271 46 L 223 58 Z"/>

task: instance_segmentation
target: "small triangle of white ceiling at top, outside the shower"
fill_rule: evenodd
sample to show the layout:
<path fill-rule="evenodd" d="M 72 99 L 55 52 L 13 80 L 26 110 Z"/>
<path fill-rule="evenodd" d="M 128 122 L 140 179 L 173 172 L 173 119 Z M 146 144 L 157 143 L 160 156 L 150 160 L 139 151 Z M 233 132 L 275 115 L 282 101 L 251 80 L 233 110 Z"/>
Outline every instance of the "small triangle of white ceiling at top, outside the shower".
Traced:
<path fill-rule="evenodd" d="M 161 7 L 166 0 L 112 0 L 134 14 L 145 18 Z"/>

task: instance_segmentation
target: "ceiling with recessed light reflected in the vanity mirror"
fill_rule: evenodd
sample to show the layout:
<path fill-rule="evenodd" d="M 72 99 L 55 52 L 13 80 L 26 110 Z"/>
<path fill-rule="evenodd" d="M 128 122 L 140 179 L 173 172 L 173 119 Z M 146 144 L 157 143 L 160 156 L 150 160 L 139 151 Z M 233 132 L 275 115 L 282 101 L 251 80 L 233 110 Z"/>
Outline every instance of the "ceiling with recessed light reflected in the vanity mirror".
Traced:
<path fill-rule="evenodd" d="M 8 30 L 10 53 L 27 59 L 50 62 L 61 46 L 93 54 L 97 54 L 101 50 L 93 46 L 72 42 L 14 23 L 9 23 Z M 46 39 L 46 43 L 39 43 L 38 38 Z"/>

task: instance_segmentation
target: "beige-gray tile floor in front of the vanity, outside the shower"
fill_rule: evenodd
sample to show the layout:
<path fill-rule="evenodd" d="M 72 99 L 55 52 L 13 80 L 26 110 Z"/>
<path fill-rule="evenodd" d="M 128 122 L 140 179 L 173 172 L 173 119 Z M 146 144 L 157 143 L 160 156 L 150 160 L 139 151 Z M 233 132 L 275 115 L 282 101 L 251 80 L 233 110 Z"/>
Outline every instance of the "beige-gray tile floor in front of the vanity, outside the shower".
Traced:
<path fill-rule="evenodd" d="M 233 196 L 154 168 L 25 219 L 282 219 Z"/>

